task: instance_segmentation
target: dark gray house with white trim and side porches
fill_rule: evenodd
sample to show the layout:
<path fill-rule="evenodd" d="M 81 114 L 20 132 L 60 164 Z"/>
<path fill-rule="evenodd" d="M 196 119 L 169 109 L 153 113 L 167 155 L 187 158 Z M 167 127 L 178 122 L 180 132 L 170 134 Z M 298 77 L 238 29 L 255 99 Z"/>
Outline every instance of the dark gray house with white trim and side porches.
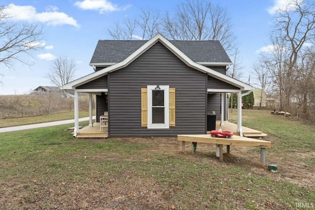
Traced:
<path fill-rule="evenodd" d="M 241 103 L 252 86 L 225 75 L 232 62 L 219 41 L 99 40 L 90 65 L 95 72 L 63 86 L 74 97 L 78 132 L 78 93 L 96 95 L 96 119 L 108 112 L 109 137 L 205 134 L 207 113 L 225 113 L 227 92 Z M 74 91 L 74 94 L 67 93 Z M 247 90 L 246 93 L 241 93 Z M 238 130 L 242 132 L 241 109 Z"/>

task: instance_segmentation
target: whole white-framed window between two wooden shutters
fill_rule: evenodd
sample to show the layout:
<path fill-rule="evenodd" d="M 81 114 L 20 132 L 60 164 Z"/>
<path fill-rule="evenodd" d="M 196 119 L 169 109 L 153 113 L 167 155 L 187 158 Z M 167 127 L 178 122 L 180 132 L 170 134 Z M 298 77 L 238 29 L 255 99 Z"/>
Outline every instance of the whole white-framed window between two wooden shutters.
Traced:
<path fill-rule="evenodd" d="M 148 86 L 148 128 L 169 128 L 169 86 Z"/>

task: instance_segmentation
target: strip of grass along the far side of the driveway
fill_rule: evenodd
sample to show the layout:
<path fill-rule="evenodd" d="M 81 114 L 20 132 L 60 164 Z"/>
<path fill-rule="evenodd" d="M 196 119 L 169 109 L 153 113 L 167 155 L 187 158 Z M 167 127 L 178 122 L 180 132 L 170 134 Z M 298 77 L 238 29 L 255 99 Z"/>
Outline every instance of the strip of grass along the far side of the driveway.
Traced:
<path fill-rule="evenodd" d="M 80 111 L 79 118 L 89 117 L 88 111 Z M 27 125 L 41 122 L 51 122 L 58 120 L 70 120 L 74 119 L 74 112 L 64 112 L 53 115 L 43 115 L 35 117 L 24 117 L 24 118 L 8 118 L 0 119 L 0 127 L 10 127 L 17 125 Z"/>

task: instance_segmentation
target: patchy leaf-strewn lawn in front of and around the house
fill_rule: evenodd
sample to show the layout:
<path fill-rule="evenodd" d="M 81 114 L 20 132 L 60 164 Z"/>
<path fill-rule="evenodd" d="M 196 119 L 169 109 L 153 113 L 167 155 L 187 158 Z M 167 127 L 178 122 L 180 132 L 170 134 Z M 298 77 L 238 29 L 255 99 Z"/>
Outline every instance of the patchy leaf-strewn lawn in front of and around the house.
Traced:
<path fill-rule="evenodd" d="M 0 209 L 315 206 L 315 126 L 261 110 L 243 116 L 268 134 L 266 161 L 278 173 L 259 165 L 258 149 L 231 147 L 220 162 L 214 145 L 182 153 L 175 137 L 74 139 L 67 125 L 0 134 Z"/>

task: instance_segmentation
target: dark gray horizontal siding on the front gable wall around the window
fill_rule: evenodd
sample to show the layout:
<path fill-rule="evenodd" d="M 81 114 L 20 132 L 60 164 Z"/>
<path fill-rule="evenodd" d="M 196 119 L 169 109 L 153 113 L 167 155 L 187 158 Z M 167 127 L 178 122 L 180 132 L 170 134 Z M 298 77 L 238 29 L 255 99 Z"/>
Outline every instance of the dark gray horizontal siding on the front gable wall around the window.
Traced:
<path fill-rule="evenodd" d="M 125 68 L 109 74 L 111 137 L 204 134 L 207 75 L 156 43 Z M 141 127 L 141 88 L 169 85 L 176 93 L 176 126 Z"/>

